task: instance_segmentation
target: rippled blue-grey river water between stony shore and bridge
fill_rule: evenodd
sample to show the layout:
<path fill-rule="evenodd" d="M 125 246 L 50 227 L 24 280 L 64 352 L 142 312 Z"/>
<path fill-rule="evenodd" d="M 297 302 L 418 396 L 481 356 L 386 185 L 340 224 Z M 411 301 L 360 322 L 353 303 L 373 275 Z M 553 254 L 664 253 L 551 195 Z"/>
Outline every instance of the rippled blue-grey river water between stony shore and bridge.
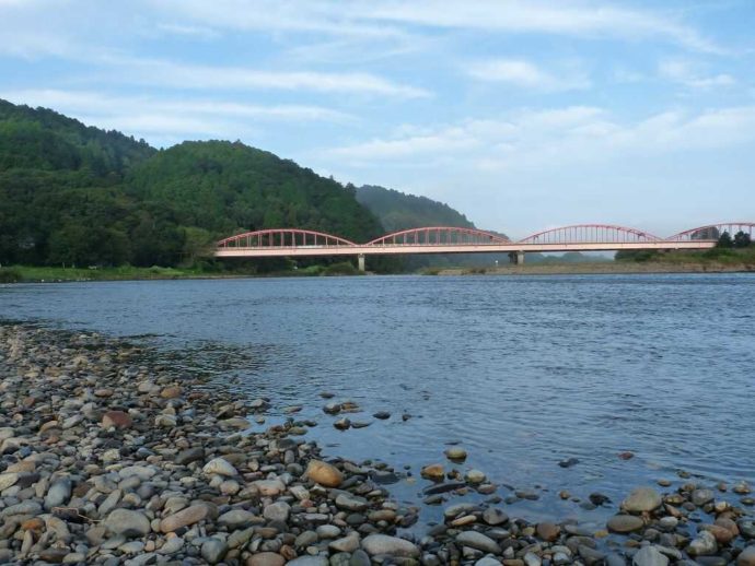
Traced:
<path fill-rule="evenodd" d="M 659 477 L 685 481 L 680 470 L 755 481 L 754 297 L 752 274 L 105 282 L 0 286 L 0 318 L 188 351 L 187 370 L 269 397 L 267 425 L 302 404 L 327 452 L 411 473 L 392 487 L 404 500 L 458 443 L 462 471 L 483 470 L 503 497 L 539 495 L 510 512 L 600 521 L 608 510 L 556 494 L 617 504 Z M 322 391 L 372 424 L 336 431 Z M 579 462 L 558 465 L 568 458 Z"/>

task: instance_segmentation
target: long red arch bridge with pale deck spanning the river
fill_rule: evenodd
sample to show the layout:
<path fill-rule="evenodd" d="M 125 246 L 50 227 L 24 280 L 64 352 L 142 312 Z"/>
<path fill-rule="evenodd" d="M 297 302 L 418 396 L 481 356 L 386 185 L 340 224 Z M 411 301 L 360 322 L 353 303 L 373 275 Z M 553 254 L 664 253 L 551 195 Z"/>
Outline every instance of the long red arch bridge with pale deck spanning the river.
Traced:
<path fill-rule="evenodd" d="M 753 237 L 755 223 L 723 222 L 687 229 L 662 238 L 647 232 L 609 224 L 578 224 L 538 232 L 520 240 L 473 228 L 432 226 L 394 232 L 357 244 L 348 239 L 299 228 L 246 232 L 218 241 L 219 258 L 271 258 L 357 256 L 364 270 L 365 256 L 397 253 L 490 253 L 506 252 L 524 262 L 526 252 L 618 251 L 640 249 L 708 249 L 724 232 Z"/>

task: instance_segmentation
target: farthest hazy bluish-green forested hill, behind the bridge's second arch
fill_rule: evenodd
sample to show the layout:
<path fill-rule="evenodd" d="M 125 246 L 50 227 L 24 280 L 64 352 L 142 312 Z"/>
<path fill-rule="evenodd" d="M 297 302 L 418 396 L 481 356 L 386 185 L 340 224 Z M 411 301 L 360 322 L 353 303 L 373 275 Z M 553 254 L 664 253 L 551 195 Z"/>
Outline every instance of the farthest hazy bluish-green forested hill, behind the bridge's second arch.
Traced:
<path fill-rule="evenodd" d="M 422 226 L 475 227 L 448 204 L 393 189 L 364 185 L 357 189 L 357 200 L 378 216 L 387 232 Z"/>

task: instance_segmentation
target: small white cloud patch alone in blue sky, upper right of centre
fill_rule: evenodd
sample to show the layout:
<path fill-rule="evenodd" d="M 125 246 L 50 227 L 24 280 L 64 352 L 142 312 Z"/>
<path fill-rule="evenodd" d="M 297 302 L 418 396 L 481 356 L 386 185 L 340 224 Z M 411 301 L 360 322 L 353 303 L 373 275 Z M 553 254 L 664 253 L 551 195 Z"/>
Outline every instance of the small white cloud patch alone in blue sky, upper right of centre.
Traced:
<path fill-rule="evenodd" d="M 468 64 L 467 73 L 479 81 L 508 83 L 537 91 L 589 89 L 590 80 L 579 70 L 554 74 L 523 59 L 491 59 Z"/>

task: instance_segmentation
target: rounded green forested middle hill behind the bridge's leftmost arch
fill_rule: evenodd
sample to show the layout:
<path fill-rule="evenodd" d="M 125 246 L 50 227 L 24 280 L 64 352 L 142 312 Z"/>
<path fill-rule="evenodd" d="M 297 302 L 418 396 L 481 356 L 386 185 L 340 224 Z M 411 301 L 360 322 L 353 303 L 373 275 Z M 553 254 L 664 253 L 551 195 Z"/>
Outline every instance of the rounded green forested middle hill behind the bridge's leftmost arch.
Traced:
<path fill-rule="evenodd" d="M 383 232 L 353 187 L 241 142 L 162 151 L 129 176 L 127 190 L 141 202 L 170 205 L 181 225 L 214 235 L 291 226 L 367 241 Z"/>

